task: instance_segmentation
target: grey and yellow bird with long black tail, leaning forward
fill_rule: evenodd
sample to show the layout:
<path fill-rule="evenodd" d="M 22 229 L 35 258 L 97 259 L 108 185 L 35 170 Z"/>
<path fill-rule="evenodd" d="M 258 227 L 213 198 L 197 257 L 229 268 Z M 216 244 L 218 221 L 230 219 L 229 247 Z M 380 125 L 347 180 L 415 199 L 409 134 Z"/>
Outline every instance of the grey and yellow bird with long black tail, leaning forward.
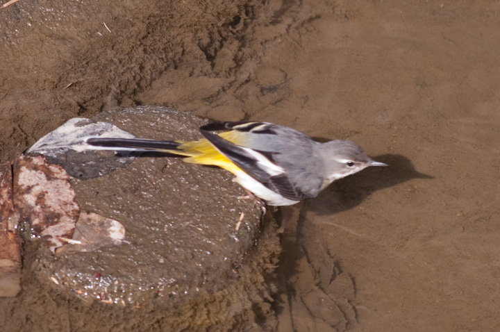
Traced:
<path fill-rule="evenodd" d="M 85 142 L 94 149 L 172 153 L 188 163 L 221 167 L 269 206 L 297 204 L 316 197 L 333 181 L 367 167 L 387 166 L 350 140 L 317 142 L 269 122 L 213 122 L 201 126 L 200 133 L 203 138 L 195 141 L 91 137 Z"/>

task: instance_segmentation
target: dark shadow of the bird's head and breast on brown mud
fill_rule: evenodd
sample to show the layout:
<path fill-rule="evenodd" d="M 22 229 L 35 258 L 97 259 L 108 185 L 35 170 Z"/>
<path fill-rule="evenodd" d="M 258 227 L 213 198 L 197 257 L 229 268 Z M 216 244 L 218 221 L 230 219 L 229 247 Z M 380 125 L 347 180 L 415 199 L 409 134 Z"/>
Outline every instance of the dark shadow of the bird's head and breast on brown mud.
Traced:
<path fill-rule="evenodd" d="M 415 170 L 411 161 L 399 154 L 374 156 L 374 160 L 388 167 L 368 167 L 358 174 L 347 176 L 332 183 L 318 197 L 310 199 L 303 208 L 317 215 L 333 215 L 355 208 L 370 194 L 411 179 L 434 179 L 434 176 Z"/>

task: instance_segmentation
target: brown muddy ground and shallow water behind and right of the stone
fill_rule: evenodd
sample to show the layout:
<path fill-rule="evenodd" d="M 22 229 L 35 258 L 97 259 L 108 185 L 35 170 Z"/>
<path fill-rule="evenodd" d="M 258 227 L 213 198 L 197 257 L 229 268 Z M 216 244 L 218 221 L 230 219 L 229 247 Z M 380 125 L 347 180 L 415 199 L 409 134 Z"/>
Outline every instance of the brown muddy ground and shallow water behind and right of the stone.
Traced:
<path fill-rule="evenodd" d="M 391 167 L 281 211 L 279 329 L 499 331 L 497 3 L 185 1 L 170 26 L 139 1 L 81 3 L 66 28 L 1 11 L 1 160 L 134 104 L 354 140 Z"/>

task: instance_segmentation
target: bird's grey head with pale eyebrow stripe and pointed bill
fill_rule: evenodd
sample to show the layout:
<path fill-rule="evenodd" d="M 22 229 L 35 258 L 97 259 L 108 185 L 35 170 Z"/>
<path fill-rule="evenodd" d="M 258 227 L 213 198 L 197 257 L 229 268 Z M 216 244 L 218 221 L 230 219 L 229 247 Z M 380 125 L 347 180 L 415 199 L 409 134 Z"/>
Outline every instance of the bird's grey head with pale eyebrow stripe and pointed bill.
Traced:
<path fill-rule="evenodd" d="M 370 166 L 387 166 L 372 160 L 361 147 L 350 140 L 333 140 L 319 145 L 324 156 L 326 181 L 323 187 L 335 180 L 360 172 Z"/>

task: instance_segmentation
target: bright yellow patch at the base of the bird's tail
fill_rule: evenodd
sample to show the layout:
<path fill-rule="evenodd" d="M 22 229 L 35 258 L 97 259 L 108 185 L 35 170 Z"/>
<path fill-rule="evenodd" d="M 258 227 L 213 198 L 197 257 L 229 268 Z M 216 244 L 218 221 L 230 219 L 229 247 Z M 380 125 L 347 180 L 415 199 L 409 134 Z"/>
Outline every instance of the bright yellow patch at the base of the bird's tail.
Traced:
<path fill-rule="evenodd" d="M 221 136 L 224 137 L 222 134 Z M 177 142 L 181 143 L 181 145 L 177 147 L 178 151 L 175 151 L 175 153 L 182 156 L 187 156 L 188 158 L 184 159 L 186 163 L 213 165 L 221 167 L 222 169 L 226 169 L 226 171 L 233 174 L 242 172 L 240 167 L 236 166 L 235 163 L 233 163 L 226 156 L 217 151 L 217 149 L 215 149 L 215 147 L 204 138 L 192 142 Z"/>

